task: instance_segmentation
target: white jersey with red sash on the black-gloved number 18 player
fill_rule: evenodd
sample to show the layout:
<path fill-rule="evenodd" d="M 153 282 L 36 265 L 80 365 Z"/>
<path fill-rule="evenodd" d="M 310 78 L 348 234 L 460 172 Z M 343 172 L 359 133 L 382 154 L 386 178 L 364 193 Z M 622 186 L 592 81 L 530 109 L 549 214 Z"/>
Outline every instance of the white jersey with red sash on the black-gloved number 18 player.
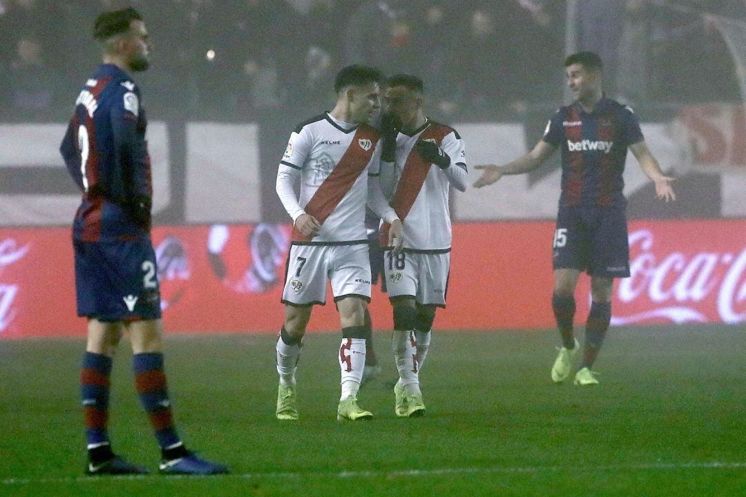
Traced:
<path fill-rule="evenodd" d="M 423 159 L 416 148 L 418 140 L 435 142 L 448 156 L 445 170 Z M 448 194 L 451 184 L 466 188 L 466 153 L 463 139 L 451 127 L 426 121 L 412 135 L 399 133 L 396 161 L 383 162 L 381 180 L 384 193 L 398 217 L 404 221 L 404 248 L 446 250 L 451 248 L 451 211 Z M 382 229 L 383 234 L 387 226 Z"/>

